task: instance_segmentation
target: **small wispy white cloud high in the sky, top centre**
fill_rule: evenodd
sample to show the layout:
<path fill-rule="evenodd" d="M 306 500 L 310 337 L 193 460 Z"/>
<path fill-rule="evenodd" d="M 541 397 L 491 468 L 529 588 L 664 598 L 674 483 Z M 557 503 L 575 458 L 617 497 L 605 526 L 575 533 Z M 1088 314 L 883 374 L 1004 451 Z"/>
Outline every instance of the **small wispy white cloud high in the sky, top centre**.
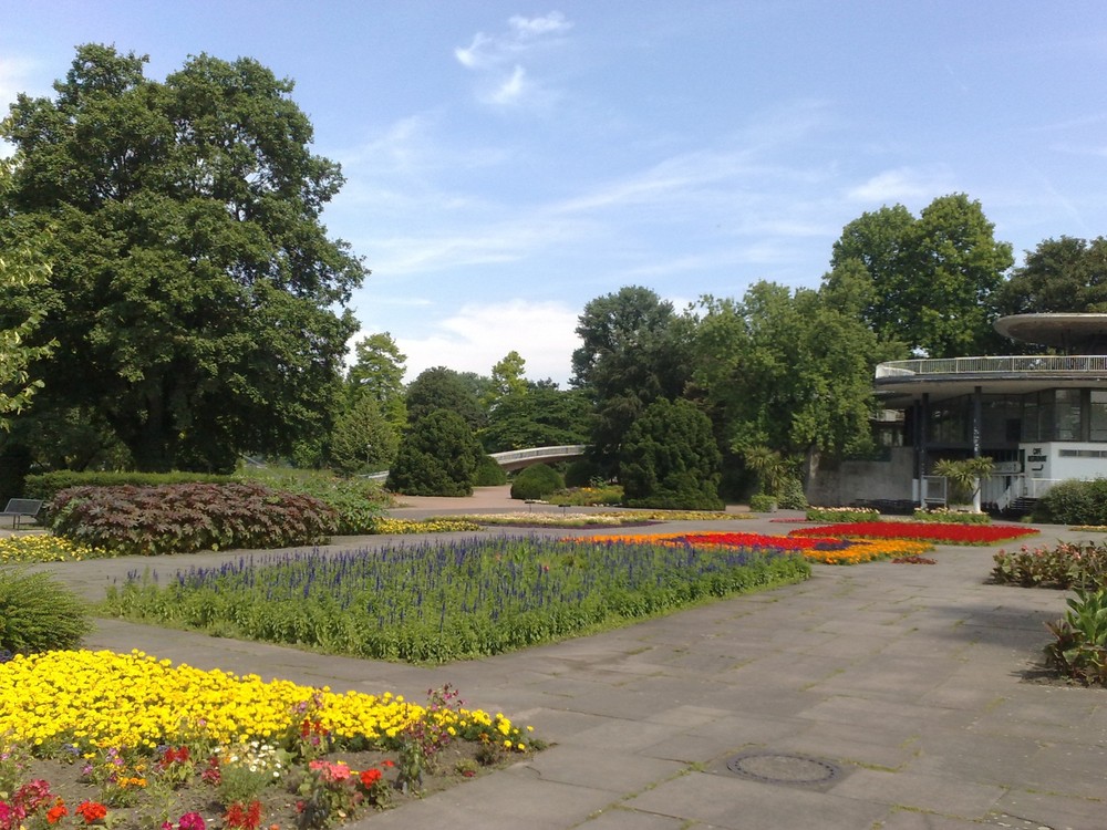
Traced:
<path fill-rule="evenodd" d="M 552 97 L 529 76 L 527 63 L 539 49 L 557 44 L 572 22 L 552 11 L 545 17 L 513 17 L 498 34 L 477 32 L 467 46 L 454 50 L 457 62 L 479 76 L 477 97 L 495 106 L 518 106 L 526 102 L 544 103 Z"/>

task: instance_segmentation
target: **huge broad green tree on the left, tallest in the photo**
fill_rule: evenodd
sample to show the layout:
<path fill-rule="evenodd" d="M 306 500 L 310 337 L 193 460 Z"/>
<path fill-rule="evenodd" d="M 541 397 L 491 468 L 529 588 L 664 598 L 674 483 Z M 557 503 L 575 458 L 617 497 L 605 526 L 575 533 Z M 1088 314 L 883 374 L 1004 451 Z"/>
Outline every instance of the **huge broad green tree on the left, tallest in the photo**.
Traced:
<path fill-rule="evenodd" d="M 80 46 L 53 96 L 18 97 L 0 245 L 51 230 L 38 403 L 94 411 L 139 469 L 223 470 L 325 429 L 366 271 L 320 221 L 342 176 L 290 81 L 145 63 Z"/>

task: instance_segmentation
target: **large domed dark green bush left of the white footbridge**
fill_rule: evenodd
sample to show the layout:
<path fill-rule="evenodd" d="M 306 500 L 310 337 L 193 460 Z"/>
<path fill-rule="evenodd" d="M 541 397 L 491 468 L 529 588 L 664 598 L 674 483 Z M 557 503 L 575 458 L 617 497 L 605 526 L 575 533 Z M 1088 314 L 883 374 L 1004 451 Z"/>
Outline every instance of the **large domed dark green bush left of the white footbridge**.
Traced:
<path fill-rule="evenodd" d="M 482 455 L 465 419 L 438 409 L 420 417 L 401 438 L 385 487 L 408 496 L 468 496 Z"/>

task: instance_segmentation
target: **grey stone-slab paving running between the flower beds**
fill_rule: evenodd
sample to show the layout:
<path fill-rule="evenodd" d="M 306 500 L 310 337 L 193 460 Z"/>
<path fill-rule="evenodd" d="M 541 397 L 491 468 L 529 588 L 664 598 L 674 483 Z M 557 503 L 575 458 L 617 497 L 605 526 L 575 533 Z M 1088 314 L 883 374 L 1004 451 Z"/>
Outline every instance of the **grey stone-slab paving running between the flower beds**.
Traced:
<path fill-rule="evenodd" d="M 443 512 L 396 512 L 422 510 Z M 742 529 L 788 528 L 763 517 Z M 1053 527 L 1032 543 L 1058 538 L 1079 536 Z M 1044 623 L 1065 594 L 986 584 L 996 549 L 817 566 L 803 584 L 436 668 L 118 621 L 87 645 L 415 699 L 451 683 L 554 744 L 363 830 L 1107 828 L 1107 691 L 1038 682 Z M 46 568 L 94 595 L 130 568 L 166 564 Z"/>

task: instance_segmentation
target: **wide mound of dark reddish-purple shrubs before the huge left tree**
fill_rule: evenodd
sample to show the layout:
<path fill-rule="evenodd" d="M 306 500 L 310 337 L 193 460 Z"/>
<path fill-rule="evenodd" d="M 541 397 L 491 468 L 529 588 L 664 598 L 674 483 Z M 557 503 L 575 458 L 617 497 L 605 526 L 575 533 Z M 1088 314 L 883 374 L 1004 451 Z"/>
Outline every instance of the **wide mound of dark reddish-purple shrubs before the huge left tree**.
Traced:
<path fill-rule="evenodd" d="M 281 548 L 324 541 L 335 511 L 257 483 L 72 487 L 54 496 L 54 533 L 127 556 Z"/>

